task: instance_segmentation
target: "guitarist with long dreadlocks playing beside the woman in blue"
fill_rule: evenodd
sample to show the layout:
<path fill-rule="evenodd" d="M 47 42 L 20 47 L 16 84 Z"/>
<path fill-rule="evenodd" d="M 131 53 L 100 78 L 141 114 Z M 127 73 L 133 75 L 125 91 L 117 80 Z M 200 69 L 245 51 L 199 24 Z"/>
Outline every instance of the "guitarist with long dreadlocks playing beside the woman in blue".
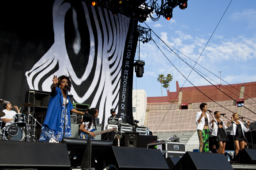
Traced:
<path fill-rule="evenodd" d="M 93 117 L 93 119 L 90 122 L 83 122 L 79 127 L 79 130 L 81 130 L 83 133 L 86 133 L 88 135 L 90 134 L 92 137 L 95 137 L 96 135 L 93 133 L 93 131 L 90 132 L 90 130 L 93 129 L 93 124 L 94 126 L 96 124 L 94 118 L 98 117 L 98 109 L 91 108 L 89 109 L 88 113 Z M 95 129 L 97 129 L 96 126 L 95 126 Z"/>

